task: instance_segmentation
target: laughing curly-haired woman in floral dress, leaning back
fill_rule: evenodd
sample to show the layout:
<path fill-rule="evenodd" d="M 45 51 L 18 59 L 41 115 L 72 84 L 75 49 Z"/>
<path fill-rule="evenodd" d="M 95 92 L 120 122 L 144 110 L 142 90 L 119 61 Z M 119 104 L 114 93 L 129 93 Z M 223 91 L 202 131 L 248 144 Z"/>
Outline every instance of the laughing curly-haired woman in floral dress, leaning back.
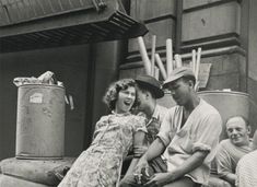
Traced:
<path fill-rule="evenodd" d="M 145 118 L 130 113 L 135 105 L 135 81 L 113 83 L 104 102 L 113 110 L 97 122 L 94 140 L 81 153 L 58 187 L 116 187 L 121 164 L 133 142 L 144 139 Z"/>

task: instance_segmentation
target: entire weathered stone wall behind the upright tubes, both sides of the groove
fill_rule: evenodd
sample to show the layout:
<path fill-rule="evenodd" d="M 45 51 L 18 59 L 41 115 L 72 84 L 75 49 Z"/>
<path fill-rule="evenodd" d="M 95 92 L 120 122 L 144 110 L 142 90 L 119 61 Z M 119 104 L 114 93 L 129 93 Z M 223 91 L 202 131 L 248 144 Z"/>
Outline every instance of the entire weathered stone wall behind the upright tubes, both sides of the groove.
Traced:
<path fill-rule="evenodd" d="M 242 30 L 245 31 L 245 21 L 242 23 L 244 13 L 242 13 L 243 5 L 240 1 L 184 0 L 182 5 L 177 5 L 176 1 L 170 1 L 166 4 L 160 3 L 160 5 L 154 2 L 153 0 L 131 1 L 131 15 L 144 20 L 150 30 L 150 33 L 144 36 L 149 55 L 152 34 L 157 35 L 156 51 L 161 54 L 164 62 L 165 39 L 168 37 L 173 38 L 174 51 L 177 47 L 183 56 L 187 56 L 184 58 L 185 62 L 188 61 L 188 54 L 192 49 L 202 47 L 201 62 L 212 63 L 210 80 L 206 89 L 232 89 L 246 92 L 247 66 L 246 50 L 243 44 L 247 38 L 242 37 L 244 36 Z M 139 10 L 141 11 L 139 12 Z M 155 21 L 154 24 L 160 24 L 160 17 L 163 14 L 172 14 L 173 24 L 165 22 L 164 25 L 157 26 L 157 31 L 148 24 L 150 15 Z M 179 20 L 179 17 L 182 19 Z M 174 33 L 179 32 L 177 30 L 179 26 L 180 33 Z M 175 43 L 176 40 L 179 43 Z M 127 61 L 120 66 L 120 78 L 135 77 L 138 73 L 145 72 L 142 68 L 138 44 L 135 39 L 130 39 Z"/>

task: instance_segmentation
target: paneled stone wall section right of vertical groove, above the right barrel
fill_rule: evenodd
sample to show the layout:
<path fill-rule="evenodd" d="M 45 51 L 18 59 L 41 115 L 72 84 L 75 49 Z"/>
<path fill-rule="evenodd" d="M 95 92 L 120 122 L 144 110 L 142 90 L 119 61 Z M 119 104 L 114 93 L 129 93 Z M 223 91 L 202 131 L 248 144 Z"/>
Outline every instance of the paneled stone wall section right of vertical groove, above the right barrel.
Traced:
<path fill-rule="evenodd" d="M 202 47 L 201 62 L 212 63 L 207 90 L 246 91 L 242 48 L 242 4 L 238 1 L 183 1 L 182 49 Z"/>

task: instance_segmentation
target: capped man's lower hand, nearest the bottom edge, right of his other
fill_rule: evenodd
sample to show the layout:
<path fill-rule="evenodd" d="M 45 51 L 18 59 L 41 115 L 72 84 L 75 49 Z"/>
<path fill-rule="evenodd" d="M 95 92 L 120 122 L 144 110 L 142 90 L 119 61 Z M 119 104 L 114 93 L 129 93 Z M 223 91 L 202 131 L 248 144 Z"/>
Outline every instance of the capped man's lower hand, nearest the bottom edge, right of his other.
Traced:
<path fill-rule="evenodd" d="M 149 180 L 143 186 L 145 187 L 162 187 L 171 182 L 173 182 L 173 174 L 172 173 L 156 173 L 153 175 L 152 179 Z"/>

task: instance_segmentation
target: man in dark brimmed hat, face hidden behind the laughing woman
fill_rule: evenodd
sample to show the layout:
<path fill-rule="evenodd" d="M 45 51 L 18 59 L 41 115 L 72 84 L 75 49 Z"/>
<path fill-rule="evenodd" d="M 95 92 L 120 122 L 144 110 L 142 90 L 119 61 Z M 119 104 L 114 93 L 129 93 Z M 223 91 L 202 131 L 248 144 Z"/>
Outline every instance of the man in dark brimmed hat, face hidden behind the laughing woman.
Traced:
<path fill-rule="evenodd" d="M 133 160 L 130 164 L 126 176 L 120 182 L 120 186 L 126 186 L 126 184 L 137 185 L 132 174 L 132 171 L 138 161 L 137 157 L 140 157 L 148 150 L 148 147 L 156 139 L 161 122 L 167 113 L 167 108 L 160 106 L 156 103 L 157 98 L 164 96 L 164 92 L 161 89 L 161 83 L 155 78 L 150 75 L 139 75 L 135 79 L 135 81 L 137 82 L 138 110 L 145 114 L 148 119 L 148 133 L 145 136 L 145 147 L 133 148 L 133 156 L 136 160 Z M 164 170 L 163 167 L 166 170 L 166 164 L 163 162 L 161 156 L 154 159 L 150 165 L 154 172 L 161 172 Z"/>

